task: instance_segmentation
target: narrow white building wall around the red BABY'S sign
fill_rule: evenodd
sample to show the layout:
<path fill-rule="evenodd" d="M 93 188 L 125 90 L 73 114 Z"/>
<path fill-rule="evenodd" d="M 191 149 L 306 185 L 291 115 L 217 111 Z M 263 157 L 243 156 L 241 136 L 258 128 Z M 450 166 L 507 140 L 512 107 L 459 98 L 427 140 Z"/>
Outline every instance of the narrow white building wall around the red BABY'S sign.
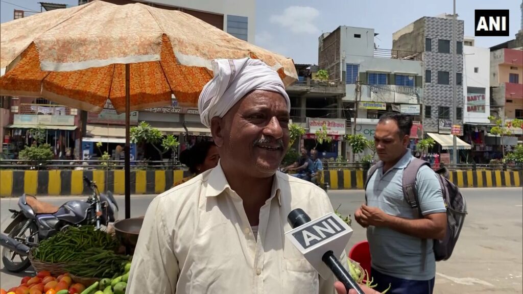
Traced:
<path fill-rule="evenodd" d="M 463 120 L 468 123 L 488 123 L 490 115 L 490 57 L 488 48 L 463 46 Z M 474 73 L 474 67 L 478 72 Z M 467 87 L 485 88 L 485 112 L 469 112 L 467 101 Z M 472 110 L 472 108 L 470 109 Z"/>

